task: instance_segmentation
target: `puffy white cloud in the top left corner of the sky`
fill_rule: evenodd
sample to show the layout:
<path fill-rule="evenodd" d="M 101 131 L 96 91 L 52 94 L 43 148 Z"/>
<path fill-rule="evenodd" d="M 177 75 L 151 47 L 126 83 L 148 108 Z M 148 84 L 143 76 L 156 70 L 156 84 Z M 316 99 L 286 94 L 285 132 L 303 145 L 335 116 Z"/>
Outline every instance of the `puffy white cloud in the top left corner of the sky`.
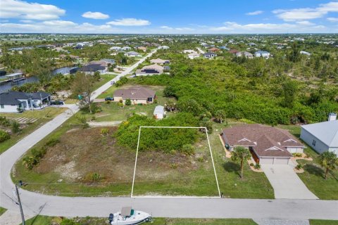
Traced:
<path fill-rule="evenodd" d="M 0 18 L 55 20 L 64 14 L 65 10 L 53 5 L 28 3 L 27 1 L 1 0 Z"/>

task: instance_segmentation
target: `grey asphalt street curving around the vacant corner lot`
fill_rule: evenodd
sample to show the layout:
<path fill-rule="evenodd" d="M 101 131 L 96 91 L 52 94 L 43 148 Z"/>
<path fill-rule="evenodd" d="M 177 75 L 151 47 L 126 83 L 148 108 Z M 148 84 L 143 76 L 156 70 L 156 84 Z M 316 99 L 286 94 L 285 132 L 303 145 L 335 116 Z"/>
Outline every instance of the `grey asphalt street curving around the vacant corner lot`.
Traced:
<path fill-rule="evenodd" d="M 132 65 L 118 77 L 127 75 L 152 53 Z M 110 82 L 94 92 L 96 98 L 110 87 Z M 35 143 L 59 127 L 78 110 L 77 105 L 68 105 L 68 110 L 44 124 L 32 134 L 18 141 L 15 146 L 0 155 L 0 205 L 19 212 L 11 199 L 14 184 L 11 168 L 15 162 Z M 132 205 L 137 210 L 153 214 L 154 217 L 186 218 L 253 218 L 253 219 L 338 219 L 337 200 L 253 200 L 225 198 L 105 198 L 105 197 L 61 197 L 43 195 L 20 189 L 20 198 L 25 214 L 42 214 L 63 217 L 107 217 L 121 207 Z"/>

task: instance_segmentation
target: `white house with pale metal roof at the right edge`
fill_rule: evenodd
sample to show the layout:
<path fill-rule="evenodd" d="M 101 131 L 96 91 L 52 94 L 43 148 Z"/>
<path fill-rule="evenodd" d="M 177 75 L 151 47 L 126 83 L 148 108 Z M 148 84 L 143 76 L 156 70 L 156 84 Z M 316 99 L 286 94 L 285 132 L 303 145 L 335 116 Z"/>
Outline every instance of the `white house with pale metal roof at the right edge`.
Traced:
<path fill-rule="evenodd" d="M 338 155 L 337 114 L 330 113 L 329 121 L 301 126 L 301 139 L 318 153 L 332 151 Z"/>

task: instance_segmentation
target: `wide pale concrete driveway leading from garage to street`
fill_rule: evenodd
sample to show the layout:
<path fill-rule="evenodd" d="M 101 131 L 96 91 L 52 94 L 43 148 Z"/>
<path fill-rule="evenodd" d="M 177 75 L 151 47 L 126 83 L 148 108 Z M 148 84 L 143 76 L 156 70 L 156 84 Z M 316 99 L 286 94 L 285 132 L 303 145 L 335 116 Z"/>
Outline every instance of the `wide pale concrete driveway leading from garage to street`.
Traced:
<path fill-rule="evenodd" d="M 290 165 L 262 165 L 261 168 L 273 186 L 275 198 L 318 199 Z"/>

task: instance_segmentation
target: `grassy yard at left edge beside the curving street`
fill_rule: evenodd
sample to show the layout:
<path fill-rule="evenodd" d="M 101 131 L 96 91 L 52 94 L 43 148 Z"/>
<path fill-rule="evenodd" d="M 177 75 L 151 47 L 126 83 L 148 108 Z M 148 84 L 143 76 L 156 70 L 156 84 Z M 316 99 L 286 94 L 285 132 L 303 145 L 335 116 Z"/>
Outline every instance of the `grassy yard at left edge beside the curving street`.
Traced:
<path fill-rule="evenodd" d="M 0 154 L 15 145 L 15 143 L 20 141 L 20 139 L 23 139 L 25 136 L 32 133 L 32 131 L 35 131 L 46 122 L 49 122 L 49 120 L 56 117 L 56 115 L 63 113 L 63 111 L 65 111 L 65 108 L 48 107 L 44 108 L 44 110 L 25 111 L 24 113 L 0 113 L 0 116 L 4 117 L 25 117 L 37 119 L 35 122 L 22 125 L 23 129 L 21 129 L 21 131 L 17 134 L 12 134 L 11 139 L 2 142 L 0 144 Z"/>

